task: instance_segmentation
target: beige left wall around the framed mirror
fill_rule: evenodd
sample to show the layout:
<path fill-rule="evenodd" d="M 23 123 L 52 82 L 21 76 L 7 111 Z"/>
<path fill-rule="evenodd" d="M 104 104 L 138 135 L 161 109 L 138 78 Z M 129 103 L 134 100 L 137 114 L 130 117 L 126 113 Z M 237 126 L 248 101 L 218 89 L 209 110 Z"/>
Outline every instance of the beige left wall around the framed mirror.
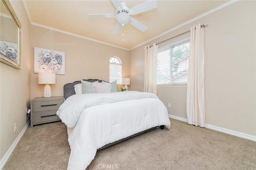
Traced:
<path fill-rule="evenodd" d="M 30 22 L 22 1 L 10 3 L 22 25 L 22 70 L 0 62 L 1 159 L 26 125 L 26 108 L 30 105 Z"/>

